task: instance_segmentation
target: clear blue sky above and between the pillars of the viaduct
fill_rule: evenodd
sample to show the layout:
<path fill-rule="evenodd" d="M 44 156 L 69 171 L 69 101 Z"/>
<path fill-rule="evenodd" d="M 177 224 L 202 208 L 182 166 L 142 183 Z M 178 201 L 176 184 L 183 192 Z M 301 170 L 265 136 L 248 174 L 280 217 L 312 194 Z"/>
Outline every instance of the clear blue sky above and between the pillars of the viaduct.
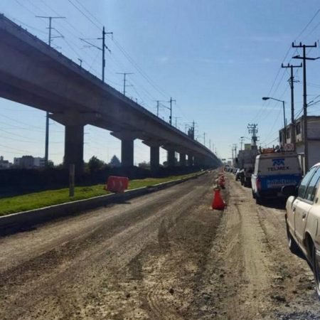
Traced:
<path fill-rule="evenodd" d="M 93 6 L 92 3 L 95 3 Z M 107 38 L 106 82 L 122 90 L 122 76 L 128 76 L 127 95 L 151 112 L 153 100 L 176 100 L 173 122 L 184 131 L 196 122 L 198 140 L 209 139 L 218 155 L 231 156 L 231 145 L 249 137 L 247 124 L 258 124 L 262 146 L 277 144 L 283 124 L 282 104 L 262 101 L 263 96 L 285 100 L 290 120 L 288 70 L 281 63 L 301 50 L 292 41 L 306 44 L 320 38 L 320 3 L 316 0 L 1 0 L 0 11 L 28 31 L 47 41 L 48 21 L 35 16 L 65 16 L 53 27 L 65 38 L 53 46 L 79 61 L 91 73 L 101 76 L 101 52 L 86 48 L 80 38 L 100 38 L 102 26 L 114 33 Z M 82 12 L 80 12 L 82 11 Z M 316 16 L 315 16 L 316 15 Z M 314 18 L 313 20 L 311 20 Z M 311 23 L 309 23 L 311 21 Z M 309 23 L 309 25 L 308 25 Z M 92 40 L 97 46 L 99 40 Z M 124 54 L 125 53 L 125 54 Z M 320 49 L 309 56 L 320 56 Z M 129 57 L 129 59 L 128 59 Z M 132 61 L 134 63 L 132 63 Z M 320 93 L 320 60 L 308 63 L 308 100 Z M 296 75 L 295 108 L 302 109 L 302 70 Z M 168 106 L 168 104 L 166 104 Z M 320 105 L 309 107 L 319 114 Z M 169 119 L 169 110 L 160 116 Z M 0 99 L 0 155 L 44 154 L 45 113 Z M 64 128 L 50 121 L 49 158 L 63 159 Z M 247 140 L 247 142 L 249 142 Z M 95 155 L 110 161 L 120 155 L 120 142 L 109 132 L 85 127 L 85 161 Z M 161 161 L 166 152 L 161 151 Z M 149 148 L 135 142 L 135 163 L 149 161 Z"/>

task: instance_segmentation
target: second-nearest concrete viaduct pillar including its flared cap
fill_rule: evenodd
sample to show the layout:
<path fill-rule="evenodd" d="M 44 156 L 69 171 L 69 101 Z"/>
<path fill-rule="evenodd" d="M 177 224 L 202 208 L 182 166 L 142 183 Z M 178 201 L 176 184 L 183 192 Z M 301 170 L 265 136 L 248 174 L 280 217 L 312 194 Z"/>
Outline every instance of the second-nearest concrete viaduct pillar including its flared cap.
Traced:
<path fill-rule="evenodd" d="M 134 166 L 134 139 L 133 132 L 111 132 L 112 136 L 121 140 L 121 165 L 124 167 Z"/>

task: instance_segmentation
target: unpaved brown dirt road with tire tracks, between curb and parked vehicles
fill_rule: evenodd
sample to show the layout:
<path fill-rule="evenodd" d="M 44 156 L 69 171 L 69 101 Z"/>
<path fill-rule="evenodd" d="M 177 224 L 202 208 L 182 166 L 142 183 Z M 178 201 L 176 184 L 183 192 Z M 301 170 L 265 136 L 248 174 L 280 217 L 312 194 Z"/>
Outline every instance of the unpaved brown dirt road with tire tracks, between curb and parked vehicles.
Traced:
<path fill-rule="evenodd" d="M 320 319 L 284 210 L 216 175 L 0 238 L 0 319 Z"/>

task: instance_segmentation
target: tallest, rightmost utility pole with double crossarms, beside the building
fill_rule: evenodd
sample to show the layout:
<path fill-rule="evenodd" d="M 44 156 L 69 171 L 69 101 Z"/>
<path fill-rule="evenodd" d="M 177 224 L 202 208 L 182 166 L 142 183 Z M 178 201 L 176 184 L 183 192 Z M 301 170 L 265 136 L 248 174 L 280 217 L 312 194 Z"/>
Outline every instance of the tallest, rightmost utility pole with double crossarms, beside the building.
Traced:
<path fill-rule="evenodd" d="M 308 103 L 306 102 L 306 60 L 316 60 L 318 58 L 308 58 L 306 57 L 306 48 L 316 48 L 316 42 L 314 45 L 306 46 L 302 45 L 300 42 L 298 46 L 292 43 L 292 48 L 303 48 L 303 56 L 295 55 L 294 59 L 301 59 L 303 60 L 303 71 L 304 71 L 304 174 L 309 169 L 309 154 L 308 154 L 308 119 L 307 117 L 307 110 Z"/>

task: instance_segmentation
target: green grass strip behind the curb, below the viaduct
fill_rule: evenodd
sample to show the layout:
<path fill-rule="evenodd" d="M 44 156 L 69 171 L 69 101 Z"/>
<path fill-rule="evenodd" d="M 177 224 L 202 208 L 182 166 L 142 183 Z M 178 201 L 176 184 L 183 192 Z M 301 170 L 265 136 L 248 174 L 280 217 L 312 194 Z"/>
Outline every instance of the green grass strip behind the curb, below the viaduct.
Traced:
<path fill-rule="evenodd" d="M 169 176 L 166 178 L 145 178 L 142 180 L 132 180 L 129 181 L 129 189 L 152 186 L 161 182 L 173 181 L 179 178 L 194 176 L 195 174 L 196 173 L 184 174 L 182 176 Z M 23 196 L 0 198 L 0 216 L 8 215 L 10 213 L 17 213 L 26 210 L 53 206 L 70 201 L 77 201 L 96 196 L 104 196 L 110 193 L 109 191 L 105 191 L 104 188 L 104 184 L 97 184 L 95 186 L 78 186 L 75 187 L 74 197 L 69 197 L 69 188 L 63 188 L 58 190 L 29 193 Z"/>

